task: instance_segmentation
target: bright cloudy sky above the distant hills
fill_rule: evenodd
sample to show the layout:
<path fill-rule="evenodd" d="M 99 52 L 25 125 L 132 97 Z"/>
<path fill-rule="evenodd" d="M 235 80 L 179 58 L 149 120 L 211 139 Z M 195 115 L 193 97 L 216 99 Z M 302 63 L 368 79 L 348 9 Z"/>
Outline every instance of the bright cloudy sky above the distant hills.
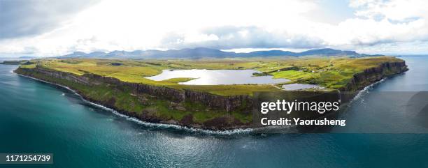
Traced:
<path fill-rule="evenodd" d="M 425 0 L 0 0 L 0 56 L 209 47 L 428 54 Z"/>

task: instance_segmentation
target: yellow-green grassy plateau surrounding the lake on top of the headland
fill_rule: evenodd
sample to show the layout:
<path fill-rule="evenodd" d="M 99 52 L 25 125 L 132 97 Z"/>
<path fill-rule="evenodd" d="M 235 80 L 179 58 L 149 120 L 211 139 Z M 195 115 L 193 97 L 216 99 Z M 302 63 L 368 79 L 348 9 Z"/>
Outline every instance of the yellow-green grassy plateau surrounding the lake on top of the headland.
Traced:
<path fill-rule="evenodd" d="M 252 95 L 254 91 L 280 91 L 282 84 L 237 84 L 197 86 L 182 85 L 191 78 L 153 81 L 145 77 L 158 75 L 165 69 L 254 69 L 274 78 L 290 79 L 287 83 L 318 84 L 326 89 L 344 86 L 357 72 L 378 66 L 384 62 L 402 61 L 391 56 L 347 58 L 347 57 L 303 57 L 287 59 L 210 59 L 210 60 L 107 60 L 107 59 L 39 59 L 34 64 L 22 65 L 34 68 L 36 64 L 44 68 L 83 75 L 87 72 L 106 77 L 115 77 L 124 82 L 136 82 L 173 89 L 206 91 L 222 96 Z"/>

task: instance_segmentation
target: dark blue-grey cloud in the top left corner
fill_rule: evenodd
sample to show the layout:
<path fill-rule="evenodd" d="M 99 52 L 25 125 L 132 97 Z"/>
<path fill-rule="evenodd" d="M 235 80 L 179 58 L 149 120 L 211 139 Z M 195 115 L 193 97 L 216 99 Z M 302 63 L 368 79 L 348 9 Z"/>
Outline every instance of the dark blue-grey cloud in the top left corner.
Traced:
<path fill-rule="evenodd" d="M 98 0 L 0 0 L 0 40 L 55 29 Z"/>

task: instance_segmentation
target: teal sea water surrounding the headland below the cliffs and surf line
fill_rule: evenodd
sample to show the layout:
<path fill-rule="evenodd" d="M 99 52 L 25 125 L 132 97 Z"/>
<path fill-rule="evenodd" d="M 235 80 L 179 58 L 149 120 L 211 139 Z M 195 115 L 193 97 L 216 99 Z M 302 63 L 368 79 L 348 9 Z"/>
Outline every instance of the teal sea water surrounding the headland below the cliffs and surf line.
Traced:
<path fill-rule="evenodd" d="M 145 125 L 0 65 L 0 153 L 54 153 L 53 165 L 37 167 L 62 168 L 428 167 L 428 131 L 418 121 L 426 109 L 409 114 L 407 100 L 428 91 L 428 56 L 401 58 L 410 70 L 363 91 L 341 114 L 345 128 L 280 135 Z"/>

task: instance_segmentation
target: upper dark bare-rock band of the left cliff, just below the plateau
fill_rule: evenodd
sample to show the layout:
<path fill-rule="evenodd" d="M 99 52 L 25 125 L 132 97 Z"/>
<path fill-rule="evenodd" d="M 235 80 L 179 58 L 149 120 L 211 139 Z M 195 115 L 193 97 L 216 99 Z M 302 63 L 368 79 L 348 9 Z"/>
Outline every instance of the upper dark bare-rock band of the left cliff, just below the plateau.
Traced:
<path fill-rule="evenodd" d="M 100 83 L 114 84 L 119 87 L 129 87 L 134 89 L 137 93 L 147 93 L 152 96 L 157 96 L 171 100 L 173 102 L 183 102 L 185 100 L 191 100 L 193 102 L 201 102 L 202 104 L 214 108 L 222 109 L 226 112 L 232 112 L 235 110 L 243 109 L 243 103 L 251 105 L 252 98 L 250 96 L 217 96 L 211 93 L 205 93 L 201 91 L 171 89 L 165 86 L 152 86 L 148 84 L 138 84 L 131 82 L 122 82 L 119 79 L 113 77 L 104 77 L 101 75 L 95 75 L 85 73 L 84 75 L 75 75 L 71 72 L 61 72 L 57 70 L 50 70 L 46 68 L 19 68 L 20 72 L 24 75 L 30 75 L 31 73 L 25 73 L 26 71 L 38 72 L 43 75 L 55 77 L 57 79 L 66 79 L 71 82 L 76 82 L 85 85 L 97 85 Z"/>

